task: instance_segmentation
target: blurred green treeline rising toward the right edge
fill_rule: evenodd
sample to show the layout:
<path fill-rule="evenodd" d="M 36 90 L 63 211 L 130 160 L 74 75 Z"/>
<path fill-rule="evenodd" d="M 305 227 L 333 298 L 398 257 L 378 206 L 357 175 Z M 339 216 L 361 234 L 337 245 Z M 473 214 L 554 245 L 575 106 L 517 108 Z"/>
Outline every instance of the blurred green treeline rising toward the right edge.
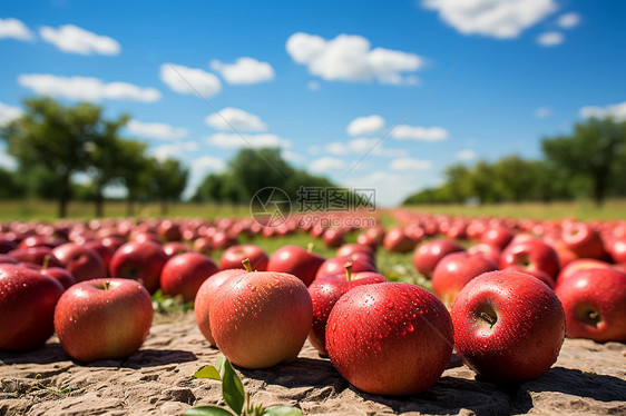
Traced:
<path fill-rule="evenodd" d="M 421 190 L 403 205 L 551 201 L 626 196 L 626 121 L 610 118 L 577 123 L 570 136 L 541 140 L 544 157 L 508 156 L 495 162 L 448 167 L 446 181 Z"/>

